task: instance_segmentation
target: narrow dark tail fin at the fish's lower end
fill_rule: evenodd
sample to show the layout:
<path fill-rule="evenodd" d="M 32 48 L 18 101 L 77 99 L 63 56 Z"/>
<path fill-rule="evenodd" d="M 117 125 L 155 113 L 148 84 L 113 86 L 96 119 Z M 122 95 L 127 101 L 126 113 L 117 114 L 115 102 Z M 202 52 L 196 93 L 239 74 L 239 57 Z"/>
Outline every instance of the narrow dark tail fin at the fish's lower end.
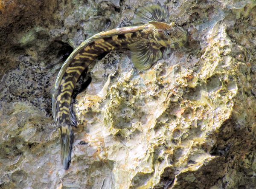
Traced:
<path fill-rule="evenodd" d="M 74 134 L 70 125 L 58 127 L 59 139 L 61 141 L 61 163 L 64 169 L 69 168 L 71 162 L 72 145 L 74 142 Z"/>

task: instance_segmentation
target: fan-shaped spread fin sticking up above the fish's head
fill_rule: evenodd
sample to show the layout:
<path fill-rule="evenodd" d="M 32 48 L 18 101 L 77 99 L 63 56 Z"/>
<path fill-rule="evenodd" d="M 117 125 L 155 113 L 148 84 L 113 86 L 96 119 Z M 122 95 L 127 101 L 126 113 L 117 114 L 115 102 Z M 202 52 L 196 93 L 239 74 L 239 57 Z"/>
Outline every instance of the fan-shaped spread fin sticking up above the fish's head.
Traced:
<path fill-rule="evenodd" d="M 148 3 L 137 9 L 132 22 L 134 25 L 146 24 L 150 21 L 169 23 L 169 18 L 168 8 L 165 5 L 161 6 L 159 2 L 156 5 Z"/>

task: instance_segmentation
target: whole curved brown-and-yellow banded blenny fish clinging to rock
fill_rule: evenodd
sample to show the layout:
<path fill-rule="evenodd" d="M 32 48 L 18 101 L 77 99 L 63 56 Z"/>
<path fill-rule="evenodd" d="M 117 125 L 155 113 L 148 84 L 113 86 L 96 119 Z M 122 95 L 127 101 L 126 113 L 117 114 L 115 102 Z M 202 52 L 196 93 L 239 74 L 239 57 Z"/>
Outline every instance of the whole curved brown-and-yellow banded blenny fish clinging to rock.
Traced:
<path fill-rule="evenodd" d="M 77 127 L 73 113 L 72 94 L 81 73 L 99 55 L 106 52 L 128 49 L 131 61 L 138 71 L 151 67 L 166 55 L 171 48 L 183 46 L 187 41 L 186 31 L 175 22 L 170 22 L 166 6 L 145 6 L 137 9 L 135 26 L 115 28 L 93 35 L 76 48 L 58 73 L 52 95 L 53 118 L 61 143 L 61 162 L 67 170 L 71 162 L 74 134 Z"/>

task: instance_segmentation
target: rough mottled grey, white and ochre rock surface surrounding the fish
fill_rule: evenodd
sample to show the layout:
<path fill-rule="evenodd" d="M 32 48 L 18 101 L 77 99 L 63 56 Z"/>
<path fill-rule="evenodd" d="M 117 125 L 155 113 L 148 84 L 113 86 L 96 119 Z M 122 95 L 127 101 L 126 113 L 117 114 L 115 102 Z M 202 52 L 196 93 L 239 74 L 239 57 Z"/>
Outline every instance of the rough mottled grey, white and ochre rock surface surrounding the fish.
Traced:
<path fill-rule="evenodd" d="M 62 63 L 145 2 L 0 1 L 0 188 L 256 188 L 254 0 L 161 0 L 189 42 L 141 73 L 128 52 L 97 60 L 61 166 L 51 95 Z"/>

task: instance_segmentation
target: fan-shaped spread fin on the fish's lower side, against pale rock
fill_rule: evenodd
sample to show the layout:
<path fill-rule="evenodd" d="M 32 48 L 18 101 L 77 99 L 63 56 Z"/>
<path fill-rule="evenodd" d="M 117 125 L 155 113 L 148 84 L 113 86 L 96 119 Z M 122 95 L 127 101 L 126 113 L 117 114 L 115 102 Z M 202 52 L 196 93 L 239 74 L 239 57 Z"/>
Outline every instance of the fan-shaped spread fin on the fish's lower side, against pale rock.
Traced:
<path fill-rule="evenodd" d="M 147 70 L 154 62 L 163 57 L 160 49 L 151 48 L 147 41 L 138 41 L 129 45 L 131 60 L 140 71 Z"/>

